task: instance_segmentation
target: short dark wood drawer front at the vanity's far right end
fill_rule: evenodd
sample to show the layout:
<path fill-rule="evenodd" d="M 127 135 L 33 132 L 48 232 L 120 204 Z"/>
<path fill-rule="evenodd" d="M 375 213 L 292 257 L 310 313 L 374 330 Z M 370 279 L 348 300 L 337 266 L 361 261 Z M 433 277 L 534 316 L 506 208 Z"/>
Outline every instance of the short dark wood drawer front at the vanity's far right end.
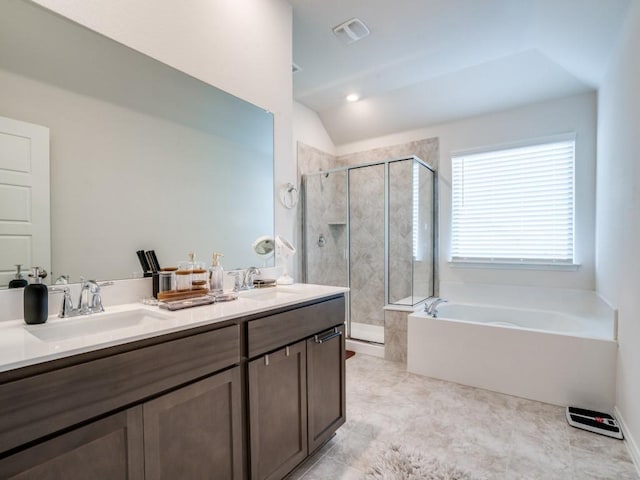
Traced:
<path fill-rule="evenodd" d="M 344 296 L 342 296 L 249 321 L 247 326 L 249 358 L 344 323 L 344 305 Z"/>

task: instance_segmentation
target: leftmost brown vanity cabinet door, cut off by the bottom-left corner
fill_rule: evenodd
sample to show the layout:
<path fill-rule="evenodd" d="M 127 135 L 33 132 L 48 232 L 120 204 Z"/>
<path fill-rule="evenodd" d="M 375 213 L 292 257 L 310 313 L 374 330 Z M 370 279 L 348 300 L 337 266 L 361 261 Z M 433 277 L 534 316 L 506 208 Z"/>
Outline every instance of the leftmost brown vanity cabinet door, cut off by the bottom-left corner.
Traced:
<path fill-rule="evenodd" d="M 142 480 L 142 409 L 134 407 L 0 460 L 11 480 Z"/>

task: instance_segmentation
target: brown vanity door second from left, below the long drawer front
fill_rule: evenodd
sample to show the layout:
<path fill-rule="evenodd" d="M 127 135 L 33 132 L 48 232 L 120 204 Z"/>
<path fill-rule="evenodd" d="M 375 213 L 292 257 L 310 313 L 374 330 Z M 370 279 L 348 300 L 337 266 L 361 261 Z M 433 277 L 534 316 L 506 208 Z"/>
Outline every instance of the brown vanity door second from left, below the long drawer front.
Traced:
<path fill-rule="evenodd" d="M 240 368 L 143 405 L 147 480 L 242 478 Z"/>

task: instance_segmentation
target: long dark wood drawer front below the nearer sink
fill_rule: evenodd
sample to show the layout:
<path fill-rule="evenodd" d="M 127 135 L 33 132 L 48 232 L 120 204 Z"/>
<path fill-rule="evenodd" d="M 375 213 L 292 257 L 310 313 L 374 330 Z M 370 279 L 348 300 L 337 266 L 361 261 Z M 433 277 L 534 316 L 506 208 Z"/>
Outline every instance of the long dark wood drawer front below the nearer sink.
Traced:
<path fill-rule="evenodd" d="M 0 452 L 239 361 L 231 325 L 0 385 Z"/>

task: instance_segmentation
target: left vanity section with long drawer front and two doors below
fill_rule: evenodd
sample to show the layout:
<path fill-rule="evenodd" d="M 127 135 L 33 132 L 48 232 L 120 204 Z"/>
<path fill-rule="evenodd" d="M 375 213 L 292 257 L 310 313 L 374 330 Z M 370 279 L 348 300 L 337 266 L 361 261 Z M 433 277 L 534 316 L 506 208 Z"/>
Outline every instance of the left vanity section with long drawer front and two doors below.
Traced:
<path fill-rule="evenodd" d="M 0 478 L 243 478 L 238 324 L 81 358 L 0 384 Z"/>

